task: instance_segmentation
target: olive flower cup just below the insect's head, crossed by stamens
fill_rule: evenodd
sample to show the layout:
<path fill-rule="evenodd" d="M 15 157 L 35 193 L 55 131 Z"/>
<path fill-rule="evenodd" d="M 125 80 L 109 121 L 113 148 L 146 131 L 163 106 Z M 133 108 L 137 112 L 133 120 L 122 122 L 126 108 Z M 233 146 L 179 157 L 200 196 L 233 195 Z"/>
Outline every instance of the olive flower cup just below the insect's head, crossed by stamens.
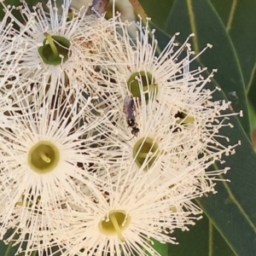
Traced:
<path fill-rule="evenodd" d="M 143 137 L 134 145 L 132 154 L 137 166 L 141 167 L 144 165 L 143 170 L 148 171 L 162 153 L 158 144 L 152 138 Z"/>

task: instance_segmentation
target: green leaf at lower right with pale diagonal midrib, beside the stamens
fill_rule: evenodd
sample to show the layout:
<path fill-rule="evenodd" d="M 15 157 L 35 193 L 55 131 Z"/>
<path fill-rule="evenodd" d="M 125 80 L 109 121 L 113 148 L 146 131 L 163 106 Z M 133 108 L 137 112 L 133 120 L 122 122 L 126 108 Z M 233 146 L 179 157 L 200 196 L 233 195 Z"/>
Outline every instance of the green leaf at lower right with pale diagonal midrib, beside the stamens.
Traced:
<path fill-rule="evenodd" d="M 201 208 L 224 236 L 236 255 L 254 255 L 256 252 L 256 156 L 250 141 L 237 121 L 231 118 L 235 128 L 224 127 L 221 134 L 230 137 L 230 144 L 241 140 L 236 154 L 224 157 L 225 163 L 216 168 L 230 167 L 230 171 L 220 178 L 228 182 L 218 182 L 217 195 L 198 200 Z"/>

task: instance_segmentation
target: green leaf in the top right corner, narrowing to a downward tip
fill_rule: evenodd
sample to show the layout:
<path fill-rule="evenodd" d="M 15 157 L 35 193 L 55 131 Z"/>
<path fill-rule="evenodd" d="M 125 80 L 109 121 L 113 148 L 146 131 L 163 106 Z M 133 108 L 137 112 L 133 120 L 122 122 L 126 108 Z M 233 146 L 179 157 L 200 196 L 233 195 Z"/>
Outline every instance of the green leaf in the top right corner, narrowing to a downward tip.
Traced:
<path fill-rule="evenodd" d="M 256 65 L 256 1 L 211 0 L 235 46 L 246 88 Z"/>

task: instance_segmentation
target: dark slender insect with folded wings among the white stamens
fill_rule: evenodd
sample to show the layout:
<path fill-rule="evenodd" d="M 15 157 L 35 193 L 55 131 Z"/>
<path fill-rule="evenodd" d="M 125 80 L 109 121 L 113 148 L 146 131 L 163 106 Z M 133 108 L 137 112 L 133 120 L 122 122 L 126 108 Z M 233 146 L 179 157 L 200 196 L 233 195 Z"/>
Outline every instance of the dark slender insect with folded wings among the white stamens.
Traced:
<path fill-rule="evenodd" d="M 126 121 L 129 127 L 131 127 L 131 134 L 137 136 L 137 133 L 140 131 L 135 122 L 134 111 L 134 100 L 129 96 L 125 96 L 124 101 L 124 112 L 126 115 Z"/>

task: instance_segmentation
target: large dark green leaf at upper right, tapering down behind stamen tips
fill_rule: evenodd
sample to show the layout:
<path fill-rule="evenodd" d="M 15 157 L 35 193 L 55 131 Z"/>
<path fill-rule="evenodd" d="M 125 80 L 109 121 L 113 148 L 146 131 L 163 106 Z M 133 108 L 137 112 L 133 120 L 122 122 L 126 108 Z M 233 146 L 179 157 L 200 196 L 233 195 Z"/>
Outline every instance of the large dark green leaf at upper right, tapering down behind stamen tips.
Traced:
<path fill-rule="evenodd" d="M 195 53 L 199 53 L 207 44 L 213 45 L 212 49 L 207 49 L 197 60 L 209 70 L 218 68 L 214 79 L 232 102 L 234 111 L 242 109 L 244 116 L 240 122 L 247 137 L 250 137 L 251 127 L 241 68 L 230 37 L 212 4 L 207 0 L 176 1 L 166 23 L 166 32 L 171 35 L 181 32 L 177 38 L 179 42 L 183 42 L 194 32 L 195 37 L 190 42 Z"/>

